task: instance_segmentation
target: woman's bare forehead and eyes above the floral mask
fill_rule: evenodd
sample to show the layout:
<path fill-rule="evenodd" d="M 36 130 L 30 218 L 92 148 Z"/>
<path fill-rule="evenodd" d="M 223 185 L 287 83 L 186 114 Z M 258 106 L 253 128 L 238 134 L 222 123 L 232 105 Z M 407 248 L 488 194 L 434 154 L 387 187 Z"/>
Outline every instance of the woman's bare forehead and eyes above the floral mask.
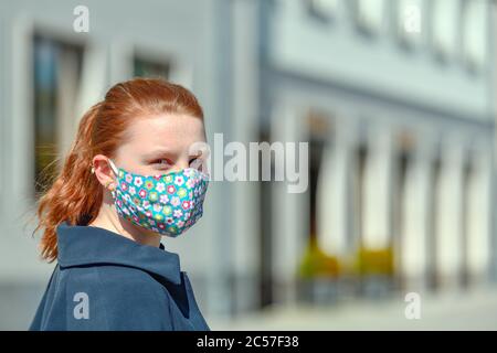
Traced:
<path fill-rule="evenodd" d="M 195 142 L 205 142 L 203 120 L 193 116 L 172 114 L 136 119 L 126 133 L 126 142 L 113 161 L 131 173 L 165 174 L 197 165 L 205 158 L 191 148 Z"/>

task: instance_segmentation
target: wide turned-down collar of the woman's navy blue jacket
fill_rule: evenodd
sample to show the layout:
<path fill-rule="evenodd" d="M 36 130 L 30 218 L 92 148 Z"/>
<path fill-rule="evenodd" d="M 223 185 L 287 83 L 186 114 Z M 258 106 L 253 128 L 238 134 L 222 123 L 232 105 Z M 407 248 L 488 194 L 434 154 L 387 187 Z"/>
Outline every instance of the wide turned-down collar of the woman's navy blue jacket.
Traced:
<path fill-rule="evenodd" d="M 144 269 L 176 285 L 181 284 L 178 254 L 141 245 L 117 233 L 93 226 L 70 225 L 57 228 L 57 261 L 61 267 L 112 264 Z"/>

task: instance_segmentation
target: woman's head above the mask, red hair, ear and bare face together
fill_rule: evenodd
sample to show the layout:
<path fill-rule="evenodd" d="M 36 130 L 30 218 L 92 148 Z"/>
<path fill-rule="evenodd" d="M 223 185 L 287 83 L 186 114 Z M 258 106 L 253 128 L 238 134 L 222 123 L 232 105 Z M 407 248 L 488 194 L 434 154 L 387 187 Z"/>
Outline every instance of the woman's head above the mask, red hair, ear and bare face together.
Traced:
<path fill-rule="evenodd" d="M 106 186 L 115 175 L 108 159 L 133 173 L 163 174 L 198 164 L 202 157 L 191 147 L 204 141 L 203 111 L 188 89 L 151 78 L 113 86 L 83 116 L 60 174 L 40 199 L 42 257 L 56 258 L 61 222 L 92 222 L 103 202 L 109 202 Z"/>

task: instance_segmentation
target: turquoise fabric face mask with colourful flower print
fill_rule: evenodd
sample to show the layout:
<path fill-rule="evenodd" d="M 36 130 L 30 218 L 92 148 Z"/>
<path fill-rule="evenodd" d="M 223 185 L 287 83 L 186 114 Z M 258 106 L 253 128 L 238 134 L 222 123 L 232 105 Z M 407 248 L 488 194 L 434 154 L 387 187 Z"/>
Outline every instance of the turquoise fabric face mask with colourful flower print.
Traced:
<path fill-rule="evenodd" d="M 161 235 L 177 237 L 203 214 L 209 175 L 187 168 L 162 175 L 140 175 L 116 168 L 112 191 L 120 217 Z"/>

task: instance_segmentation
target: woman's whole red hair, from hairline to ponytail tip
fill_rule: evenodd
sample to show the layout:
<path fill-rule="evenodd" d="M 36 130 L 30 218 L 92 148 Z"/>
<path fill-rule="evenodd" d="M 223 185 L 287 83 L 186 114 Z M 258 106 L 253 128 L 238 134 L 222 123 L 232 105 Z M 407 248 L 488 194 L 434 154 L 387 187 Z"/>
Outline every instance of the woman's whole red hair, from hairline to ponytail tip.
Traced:
<path fill-rule="evenodd" d="M 34 232 L 44 229 L 40 244 L 43 259 L 51 263 L 57 257 L 59 224 L 66 220 L 73 225 L 89 223 L 98 214 L 103 186 L 91 173 L 93 157 L 113 157 L 134 119 L 158 114 L 203 119 L 202 108 L 191 92 L 159 78 L 118 83 L 107 92 L 104 100 L 86 111 L 61 171 L 38 202 L 39 221 Z"/>

